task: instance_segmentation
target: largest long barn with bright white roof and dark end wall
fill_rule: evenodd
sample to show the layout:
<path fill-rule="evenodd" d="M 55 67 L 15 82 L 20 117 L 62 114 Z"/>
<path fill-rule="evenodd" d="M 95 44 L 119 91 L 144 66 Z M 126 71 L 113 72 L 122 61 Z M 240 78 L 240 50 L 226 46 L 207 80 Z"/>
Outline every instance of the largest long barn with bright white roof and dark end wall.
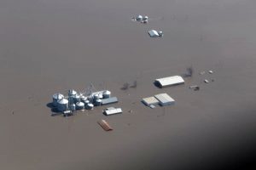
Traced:
<path fill-rule="evenodd" d="M 165 78 L 155 79 L 155 82 L 157 86 L 160 86 L 160 88 L 164 88 L 166 86 L 183 84 L 184 80 L 183 80 L 183 77 L 174 76 L 174 77 L 165 77 Z"/>

